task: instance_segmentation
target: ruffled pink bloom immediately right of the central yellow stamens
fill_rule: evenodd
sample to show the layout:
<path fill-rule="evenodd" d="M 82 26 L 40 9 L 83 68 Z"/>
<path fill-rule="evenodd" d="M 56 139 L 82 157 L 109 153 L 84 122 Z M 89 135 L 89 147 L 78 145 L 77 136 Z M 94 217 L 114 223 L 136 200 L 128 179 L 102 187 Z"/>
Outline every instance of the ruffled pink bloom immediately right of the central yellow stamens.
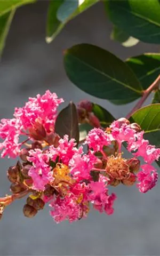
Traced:
<path fill-rule="evenodd" d="M 77 180 L 91 179 L 90 172 L 92 171 L 94 164 L 97 161 L 92 153 L 88 155 L 75 154 L 69 162 L 71 174 Z"/>

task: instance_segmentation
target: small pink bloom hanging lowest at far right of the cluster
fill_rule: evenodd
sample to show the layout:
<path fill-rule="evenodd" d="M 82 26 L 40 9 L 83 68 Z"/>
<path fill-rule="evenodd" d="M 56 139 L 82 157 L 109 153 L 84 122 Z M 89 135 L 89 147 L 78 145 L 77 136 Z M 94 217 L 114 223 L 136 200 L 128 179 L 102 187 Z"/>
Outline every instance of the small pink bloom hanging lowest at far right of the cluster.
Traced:
<path fill-rule="evenodd" d="M 158 180 L 158 173 L 156 169 L 149 165 L 143 164 L 141 165 L 142 171 L 137 174 L 139 183 L 137 184 L 139 191 L 142 193 L 146 193 L 149 189 L 152 189 Z"/>

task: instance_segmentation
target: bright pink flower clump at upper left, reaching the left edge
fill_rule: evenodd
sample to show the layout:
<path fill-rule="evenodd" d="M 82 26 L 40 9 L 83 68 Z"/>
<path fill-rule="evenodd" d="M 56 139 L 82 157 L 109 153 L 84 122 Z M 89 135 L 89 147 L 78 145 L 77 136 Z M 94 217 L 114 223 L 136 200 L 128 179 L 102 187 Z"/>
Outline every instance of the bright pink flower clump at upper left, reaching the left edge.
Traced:
<path fill-rule="evenodd" d="M 37 98 L 29 98 L 24 107 L 15 108 L 14 118 L 2 119 L 0 138 L 4 141 L 0 143 L 0 150 L 3 149 L 1 157 L 6 155 L 17 157 L 19 155 L 22 145 L 19 142 L 20 135 L 33 139 L 31 136 L 33 130 L 39 130 L 39 135 L 53 132 L 57 108 L 62 102 L 63 99 L 58 99 L 57 94 L 48 90 L 42 96 L 37 94 Z"/>

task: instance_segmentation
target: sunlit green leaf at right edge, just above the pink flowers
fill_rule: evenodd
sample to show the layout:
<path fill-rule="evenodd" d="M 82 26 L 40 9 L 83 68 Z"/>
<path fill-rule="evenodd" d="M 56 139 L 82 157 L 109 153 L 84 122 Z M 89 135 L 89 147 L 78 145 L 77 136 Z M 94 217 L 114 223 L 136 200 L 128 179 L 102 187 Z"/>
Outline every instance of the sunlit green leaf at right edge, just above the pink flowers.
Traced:
<path fill-rule="evenodd" d="M 141 126 L 145 131 L 145 139 L 160 147 L 160 104 L 148 105 L 135 111 L 130 121 Z"/>

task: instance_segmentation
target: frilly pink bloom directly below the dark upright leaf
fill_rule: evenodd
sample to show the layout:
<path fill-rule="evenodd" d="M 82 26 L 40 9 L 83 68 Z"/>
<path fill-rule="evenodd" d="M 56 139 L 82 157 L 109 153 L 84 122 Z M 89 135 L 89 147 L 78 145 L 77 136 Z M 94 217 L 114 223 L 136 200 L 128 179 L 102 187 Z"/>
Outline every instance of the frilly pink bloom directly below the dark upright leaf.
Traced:
<path fill-rule="evenodd" d="M 59 157 L 59 162 L 68 165 L 70 159 L 74 156 L 75 153 L 82 153 L 82 147 L 77 149 L 75 139 L 68 139 L 68 135 L 65 135 L 63 139 L 59 140 L 59 146 L 55 148 L 50 146 L 50 156 L 54 162 L 57 157 Z"/>

